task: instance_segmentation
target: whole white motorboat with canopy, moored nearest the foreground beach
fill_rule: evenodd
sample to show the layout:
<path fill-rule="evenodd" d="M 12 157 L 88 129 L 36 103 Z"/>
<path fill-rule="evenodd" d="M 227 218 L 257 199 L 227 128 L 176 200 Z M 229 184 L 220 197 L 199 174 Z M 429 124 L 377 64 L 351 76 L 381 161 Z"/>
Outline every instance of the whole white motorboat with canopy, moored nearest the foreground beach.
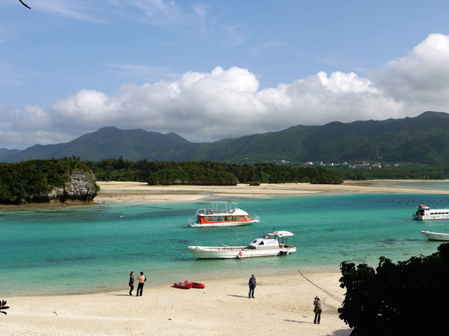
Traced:
<path fill-rule="evenodd" d="M 267 257 L 270 255 L 288 255 L 296 252 L 294 234 L 288 231 L 265 233 L 265 235 L 257 238 L 248 246 L 187 246 L 187 248 L 197 259 Z"/>

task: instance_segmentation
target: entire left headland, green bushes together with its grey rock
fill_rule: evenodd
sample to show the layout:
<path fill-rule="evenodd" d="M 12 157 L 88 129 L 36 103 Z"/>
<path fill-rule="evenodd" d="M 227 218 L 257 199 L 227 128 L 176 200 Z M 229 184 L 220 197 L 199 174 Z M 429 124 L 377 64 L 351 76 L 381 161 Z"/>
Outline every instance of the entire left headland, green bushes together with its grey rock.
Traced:
<path fill-rule="evenodd" d="M 71 179 L 73 180 L 76 173 L 78 173 L 75 177 L 77 179 L 79 179 L 79 173 L 86 175 L 88 181 L 77 181 L 77 183 L 85 185 L 87 182 L 90 190 L 83 189 L 82 192 L 73 190 L 74 183 Z M 15 164 L 0 164 L 0 203 L 22 204 L 47 202 L 52 199 L 88 201 L 93 199 L 99 190 L 90 177 L 93 178 L 90 168 L 75 159 L 31 160 Z M 68 189 L 72 190 L 68 191 Z"/>

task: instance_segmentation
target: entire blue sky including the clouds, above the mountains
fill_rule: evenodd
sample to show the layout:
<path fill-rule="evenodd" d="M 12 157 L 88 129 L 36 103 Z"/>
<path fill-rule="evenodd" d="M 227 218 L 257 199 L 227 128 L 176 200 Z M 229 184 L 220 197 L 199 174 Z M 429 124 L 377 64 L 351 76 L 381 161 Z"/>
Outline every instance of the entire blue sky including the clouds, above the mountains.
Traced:
<path fill-rule="evenodd" d="M 449 1 L 0 0 L 0 148 L 449 112 Z"/>

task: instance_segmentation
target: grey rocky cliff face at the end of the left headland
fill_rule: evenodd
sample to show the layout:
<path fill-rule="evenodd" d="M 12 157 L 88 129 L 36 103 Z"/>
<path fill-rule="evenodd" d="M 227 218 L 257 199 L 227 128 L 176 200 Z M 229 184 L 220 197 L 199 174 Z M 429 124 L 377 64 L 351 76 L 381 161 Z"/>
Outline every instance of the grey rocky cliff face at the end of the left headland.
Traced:
<path fill-rule="evenodd" d="M 68 172 L 69 181 L 64 188 L 53 188 L 48 194 L 27 195 L 28 203 L 70 203 L 81 201 L 90 203 L 98 194 L 93 172 L 74 170 Z"/>

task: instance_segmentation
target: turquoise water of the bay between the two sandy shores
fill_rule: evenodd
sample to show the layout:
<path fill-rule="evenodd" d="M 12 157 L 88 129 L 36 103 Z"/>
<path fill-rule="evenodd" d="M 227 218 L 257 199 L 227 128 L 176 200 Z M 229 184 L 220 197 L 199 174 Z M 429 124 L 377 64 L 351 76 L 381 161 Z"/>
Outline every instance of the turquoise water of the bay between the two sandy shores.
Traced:
<path fill-rule="evenodd" d="M 224 200 L 224 199 L 217 199 Z M 280 270 L 338 270 L 343 260 L 376 266 L 437 250 L 420 230 L 449 233 L 449 221 L 413 221 L 417 204 L 446 207 L 449 195 L 356 194 L 233 199 L 260 223 L 189 228 L 209 202 L 98 204 L 0 213 L 0 294 L 127 290 L 141 270 L 155 284 Z M 289 230 L 297 253 L 255 259 L 194 259 L 188 245 L 245 245 L 265 232 Z M 146 286 L 149 286 L 149 281 Z"/>

